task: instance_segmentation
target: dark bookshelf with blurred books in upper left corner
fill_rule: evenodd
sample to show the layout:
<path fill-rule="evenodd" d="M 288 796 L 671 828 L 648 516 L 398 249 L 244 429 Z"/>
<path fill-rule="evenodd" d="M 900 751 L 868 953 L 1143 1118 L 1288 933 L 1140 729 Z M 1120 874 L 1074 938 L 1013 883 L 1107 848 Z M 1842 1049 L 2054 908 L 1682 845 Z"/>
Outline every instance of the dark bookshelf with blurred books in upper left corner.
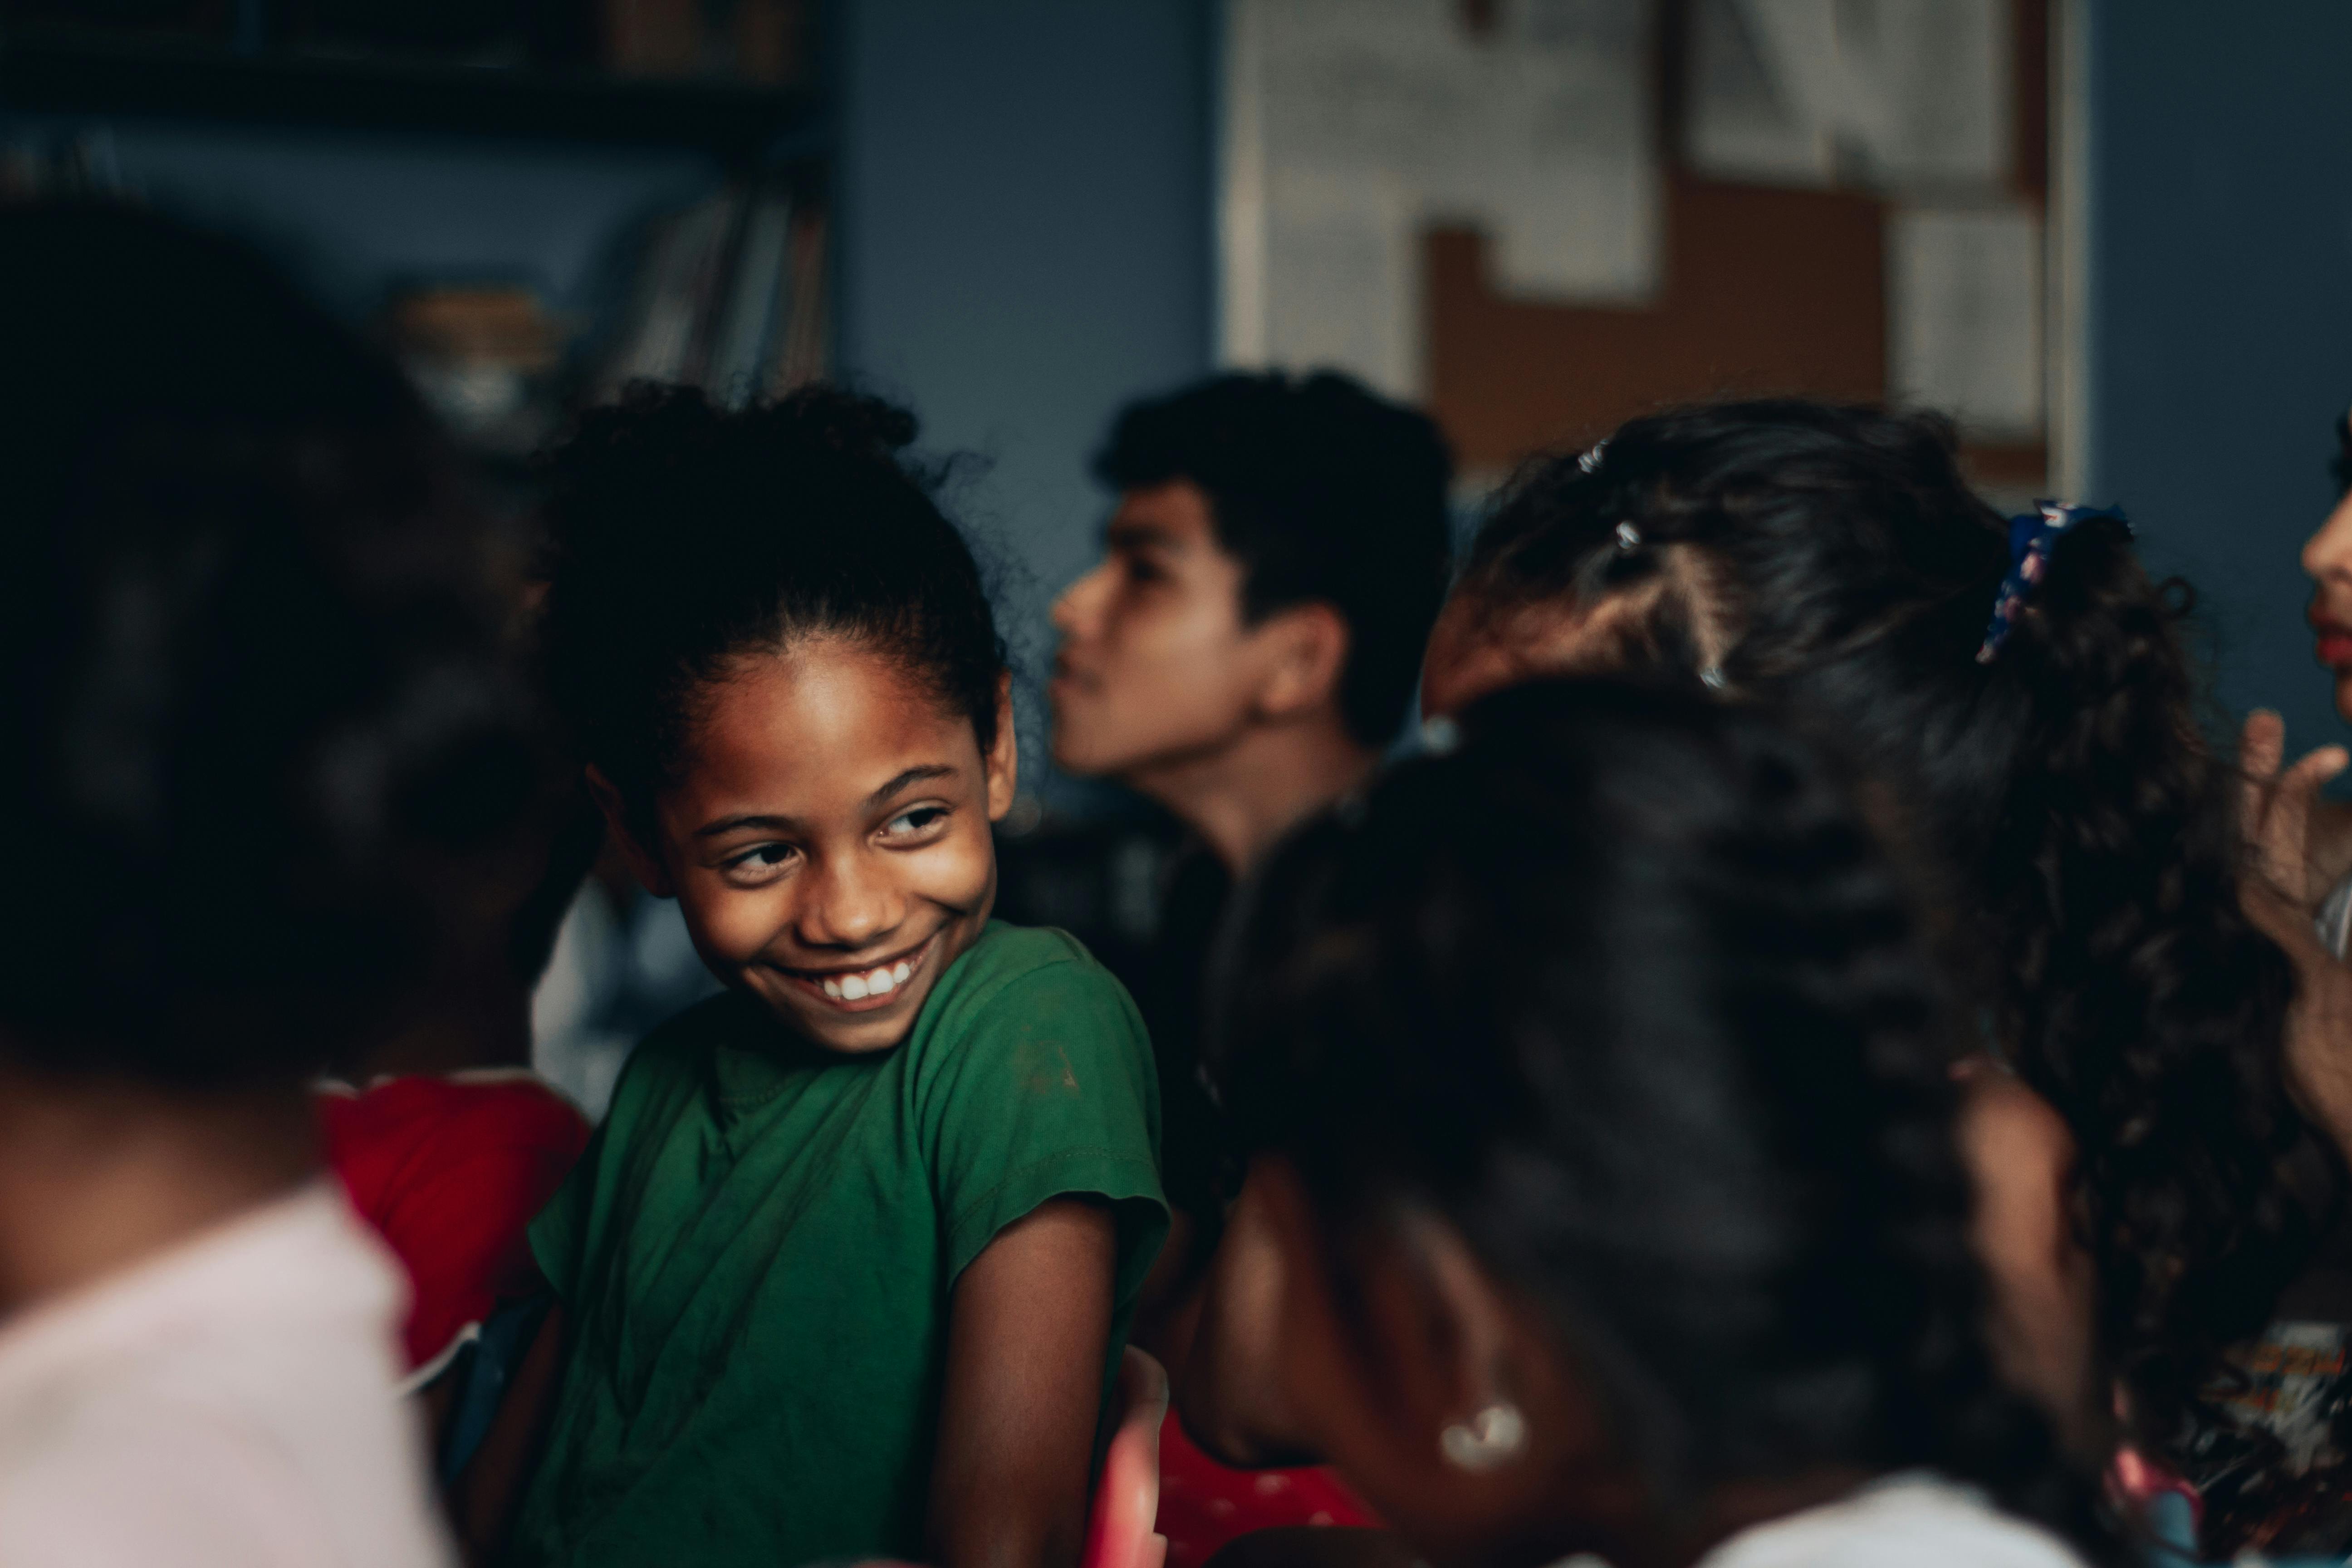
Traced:
<path fill-rule="evenodd" d="M 741 400 L 826 374 L 816 21 L 816 0 L 0 0 L 0 200 L 235 190 L 230 223 L 263 244 L 301 235 L 372 273 L 369 331 L 487 468 L 520 475 L 630 378 Z M 158 162 L 188 127 L 261 136 Z M 343 162 L 353 186 L 289 190 L 270 148 Z M 550 270 L 485 195 L 550 153 L 607 223 L 593 273 Z M 684 179 L 654 207 L 612 197 L 644 153 Z M 360 214 L 386 167 L 412 193 L 449 181 L 428 266 Z"/>

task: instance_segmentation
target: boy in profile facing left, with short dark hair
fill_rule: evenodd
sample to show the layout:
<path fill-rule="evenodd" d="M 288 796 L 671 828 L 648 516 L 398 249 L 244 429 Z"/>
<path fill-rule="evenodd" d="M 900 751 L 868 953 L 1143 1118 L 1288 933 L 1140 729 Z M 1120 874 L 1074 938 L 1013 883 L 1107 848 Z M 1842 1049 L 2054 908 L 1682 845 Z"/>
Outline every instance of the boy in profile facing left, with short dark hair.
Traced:
<path fill-rule="evenodd" d="M 1143 1345 L 1181 1375 L 1183 1300 L 1232 1197 L 1200 1081 L 1209 936 L 1232 879 L 1402 729 L 1444 597 L 1451 463 L 1423 414 L 1341 376 L 1221 376 L 1124 409 L 1096 475 L 1117 510 L 1054 604 L 1047 696 L 1063 771 L 1190 832 L 1136 973 L 1178 1213 Z"/>

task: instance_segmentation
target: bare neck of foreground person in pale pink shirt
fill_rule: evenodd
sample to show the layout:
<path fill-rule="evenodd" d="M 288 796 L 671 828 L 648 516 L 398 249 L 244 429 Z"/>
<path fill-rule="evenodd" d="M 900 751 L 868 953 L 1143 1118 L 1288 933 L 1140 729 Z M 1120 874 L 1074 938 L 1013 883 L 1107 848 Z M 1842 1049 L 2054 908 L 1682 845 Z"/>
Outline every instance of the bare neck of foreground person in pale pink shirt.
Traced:
<path fill-rule="evenodd" d="M 301 1084 L 172 1095 L 0 1067 L 0 1321 L 301 1187 Z"/>

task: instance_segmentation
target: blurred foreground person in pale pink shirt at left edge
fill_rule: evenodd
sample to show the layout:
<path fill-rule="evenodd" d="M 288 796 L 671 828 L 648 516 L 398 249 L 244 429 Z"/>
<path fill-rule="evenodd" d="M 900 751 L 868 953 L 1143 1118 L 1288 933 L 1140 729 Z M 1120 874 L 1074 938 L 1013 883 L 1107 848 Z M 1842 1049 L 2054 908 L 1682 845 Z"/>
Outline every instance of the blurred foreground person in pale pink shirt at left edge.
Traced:
<path fill-rule="evenodd" d="M 0 1552 L 447 1561 L 310 1079 L 506 936 L 536 710 L 376 350 L 223 242 L 0 209 Z"/>

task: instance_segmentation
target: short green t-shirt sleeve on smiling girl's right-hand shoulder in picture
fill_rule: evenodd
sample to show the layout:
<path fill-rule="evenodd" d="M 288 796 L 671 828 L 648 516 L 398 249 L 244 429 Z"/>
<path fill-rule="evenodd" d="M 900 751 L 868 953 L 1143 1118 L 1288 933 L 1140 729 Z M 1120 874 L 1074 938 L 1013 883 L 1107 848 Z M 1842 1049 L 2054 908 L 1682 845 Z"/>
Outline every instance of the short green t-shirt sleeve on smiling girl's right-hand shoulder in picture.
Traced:
<path fill-rule="evenodd" d="M 917 1084 L 948 1279 L 1040 1204 L 1084 1194 L 1117 1211 L 1127 1300 L 1167 1234 L 1150 1039 L 1127 990 L 1077 943 L 1021 936 L 1065 957 L 974 994 Z"/>

